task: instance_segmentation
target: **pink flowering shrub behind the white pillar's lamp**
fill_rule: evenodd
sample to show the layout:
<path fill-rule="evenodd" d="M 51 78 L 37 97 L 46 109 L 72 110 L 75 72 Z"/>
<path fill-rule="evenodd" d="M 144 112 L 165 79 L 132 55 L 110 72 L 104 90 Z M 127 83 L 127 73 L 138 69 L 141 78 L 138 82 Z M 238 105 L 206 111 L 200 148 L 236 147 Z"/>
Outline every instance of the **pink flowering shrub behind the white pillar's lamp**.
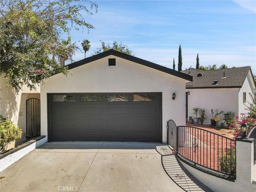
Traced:
<path fill-rule="evenodd" d="M 235 133 L 234 135 L 234 139 L 236 139 L 237 137 L 241 137 L 243 134 L 243 131 L 241 129 L 241 125 L 243 125 L 244 123 L 246 123 L 248 125 L 248 129 L 247 129 L 247 133 L 246 135 L 248 135 L 248 133 L 251 131 L 251 129 L 256 126 L 256 119 L 251 118 L 251 117 L 247 117 L 245 114 L 241 114 L 241 118 L 239 119 L 238 116 L 235 117 L 235 123 L 231 123 L 228 127 L 228 129 L 235 129 Z"/>

